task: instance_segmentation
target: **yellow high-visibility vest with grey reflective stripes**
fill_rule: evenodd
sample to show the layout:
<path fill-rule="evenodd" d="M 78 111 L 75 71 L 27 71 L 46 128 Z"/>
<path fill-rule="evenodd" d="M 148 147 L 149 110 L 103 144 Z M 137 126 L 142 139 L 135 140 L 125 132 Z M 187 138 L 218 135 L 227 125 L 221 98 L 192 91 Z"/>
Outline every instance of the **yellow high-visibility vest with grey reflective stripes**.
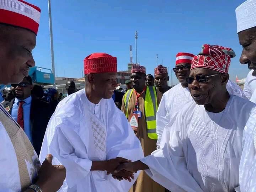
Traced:
<path fill-rule="evenodd" d="M 130 102 L 130 98 L 132 96 L 134 89 L 129 89 L 124 95 L 124 106 L 126 107 L 126 117 L 128 118 L 128 106 Z M 148 137 L 150 139 L 158 139 L 158 135 L 156 134 L 156 112 L 158 110 L 157 96 L 155 87 L 146 87 L 145 92 L 145 116 L 147 123 L 147 132 Z"/>

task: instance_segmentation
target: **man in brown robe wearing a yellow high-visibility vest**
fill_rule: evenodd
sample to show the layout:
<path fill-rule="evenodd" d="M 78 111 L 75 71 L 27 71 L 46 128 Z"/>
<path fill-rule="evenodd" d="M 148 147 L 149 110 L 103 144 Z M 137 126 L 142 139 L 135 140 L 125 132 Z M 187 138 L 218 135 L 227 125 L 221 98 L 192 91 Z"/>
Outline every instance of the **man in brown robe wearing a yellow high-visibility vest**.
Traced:
<path fill-rule="evenodd" d="M 122 101 L 122 111 L 126 114 L 136 136 L 139 138 L 144 155 L 150 155 L 156 149 L 156 111 L 162 94 L 154 86 L 145 86 L 146 68 L 132 65 L 130 80 L 133 89 L 127 91 Z M 130 190 L 133 192 L 161 192 L 164 187 L 142 171 Z"/>

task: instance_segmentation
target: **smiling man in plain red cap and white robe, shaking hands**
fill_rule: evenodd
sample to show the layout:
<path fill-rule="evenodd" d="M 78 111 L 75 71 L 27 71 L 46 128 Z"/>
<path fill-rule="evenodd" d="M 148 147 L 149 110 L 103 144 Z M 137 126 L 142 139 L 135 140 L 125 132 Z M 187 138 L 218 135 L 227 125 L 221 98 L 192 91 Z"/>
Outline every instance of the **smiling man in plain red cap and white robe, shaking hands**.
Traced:
<path fill-rule="evenodd" d="M 40 159 L 47 153 L 66 167 L 62 191 L 128 191 L 137 178 L 114 169 L 143 157 L 125 115 L 111 98 L 116 90 L 117 58 L 93 53 L 84 59 L 85 89 L 64 98 L 49 121 Z M 127 158 L 127 159 L 124 159 Z M 108 174 L 107 174 L 108 173 Z M 122 180 L 118 182 L 114 178 Z"/>

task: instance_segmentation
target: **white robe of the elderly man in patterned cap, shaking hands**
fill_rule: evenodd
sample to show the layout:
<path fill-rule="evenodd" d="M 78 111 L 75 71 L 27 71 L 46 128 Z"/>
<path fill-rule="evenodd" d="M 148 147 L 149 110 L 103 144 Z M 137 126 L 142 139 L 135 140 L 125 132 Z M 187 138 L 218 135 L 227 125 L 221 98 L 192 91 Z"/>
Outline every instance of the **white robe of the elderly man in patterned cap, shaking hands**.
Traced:
<path fill-rule="evenodd" d="M 255 106 L 238 96 L 220 113 L 187 103 L 165 127 L 160 149 L 141 160 L 146 173 L 170 191 L 234 191 L 243 130 Z"/>

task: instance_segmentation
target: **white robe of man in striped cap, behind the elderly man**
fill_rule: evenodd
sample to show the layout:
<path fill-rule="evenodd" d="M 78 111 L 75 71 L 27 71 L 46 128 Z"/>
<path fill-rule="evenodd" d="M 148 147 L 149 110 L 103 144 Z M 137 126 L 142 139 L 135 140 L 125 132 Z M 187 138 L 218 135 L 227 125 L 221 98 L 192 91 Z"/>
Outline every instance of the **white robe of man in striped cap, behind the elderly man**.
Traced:
<path fill-rule="evenodd" d="M 230 95 L 247 99 L 241 88 L 230 80 L 226 85 L 226 89 Z M 187 87 L 182 87 L 180 83 L 164 93 L 158 107 L 158 112 L 156 113 L 157 149 L 160 148 L 159 145 L 164 127 L 170 122 L 171 117 L 190 101 L 193 101 L 190 91 Z"/>

